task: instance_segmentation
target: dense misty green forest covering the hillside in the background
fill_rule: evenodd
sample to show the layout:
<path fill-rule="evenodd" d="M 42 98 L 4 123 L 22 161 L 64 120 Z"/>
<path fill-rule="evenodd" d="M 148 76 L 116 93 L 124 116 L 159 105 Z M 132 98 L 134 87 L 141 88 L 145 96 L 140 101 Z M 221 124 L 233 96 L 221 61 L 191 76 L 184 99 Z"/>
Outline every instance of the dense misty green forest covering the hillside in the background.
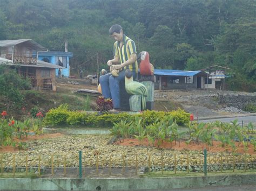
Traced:
<path fill-rule="evenodd" d="M 123 26 L 156 68 L 227 70 L 228 89 L 256 91 L 255 0 L 1 0 L 0 40 L 31 38 L 73 52 L 71 67 L 96 73 L 113 56 L 109 28 Z"/>

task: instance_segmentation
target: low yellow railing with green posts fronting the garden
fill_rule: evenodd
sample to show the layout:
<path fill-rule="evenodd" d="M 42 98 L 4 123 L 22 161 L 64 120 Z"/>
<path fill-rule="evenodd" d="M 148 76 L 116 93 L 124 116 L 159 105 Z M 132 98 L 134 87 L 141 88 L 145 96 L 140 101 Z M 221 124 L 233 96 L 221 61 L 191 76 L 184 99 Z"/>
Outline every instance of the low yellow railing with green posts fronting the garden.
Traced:
<path fill-rule="evenodd" d="M 106 155 L 94 152 L 90 157 L 79 151 L 71 161 L 66 155 L 41 153 L 35 157 L 28 154 L 3 153 L 0 157 L 1 174 L 12 173 L 43 176 L 136 176 L 146 172 L 207 173 L 211 172 L 247 172 L 256 169 L 256 154 L 240 154 L 235 152 L 204 152 L 182 154 L 161 151 L 152 158 L 150 153 L 134 155 Z M 11 159 L 10 159 L 11 158 Z"/>

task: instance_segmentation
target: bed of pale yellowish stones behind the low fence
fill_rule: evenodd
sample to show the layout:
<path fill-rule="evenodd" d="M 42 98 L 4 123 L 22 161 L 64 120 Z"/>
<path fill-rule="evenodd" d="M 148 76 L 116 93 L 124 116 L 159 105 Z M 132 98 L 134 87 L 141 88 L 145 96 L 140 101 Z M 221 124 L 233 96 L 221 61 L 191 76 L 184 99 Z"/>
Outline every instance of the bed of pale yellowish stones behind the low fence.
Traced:
<path fill-rule="evenodd" d="M 174 164 L 177 171 L 186 171 L 187 164 L 190 171 L 203 170 L 203 152 L 201 151 L 176 151 L 171 149 L 158 149 L 153 147 L 131 147 L 112 144 L 112 136 L 102 135 L 81 135 L 62 136 L 52 139 L 33 140 L 28 142 L 28 150 L 14 153 L 2 154 L 3 166 L 12 166 L 14 155 L 16 167 L 24 167 L 25 157 L 28 156 L 28 166 L 38 166 L 38 159 L 41 159 L 42 167 L 51 167 L 53 160 L 55 167 L 63 167 L 66 159 L 67 167 L 78 166 L 78 152 L 83 153 L 83 166 L 96 166 L 97 156 L 99 166 L 107 167 L 110 164 L 114 167 L 135 166 L 136 155 L 138 166 L 150 166 L 154 171 L 160 171 L 160 167 L 173 170 Z M 150 157 L 149 157 L 150 156 Z M 220 153 L 208 153 L 208 169 L 210 171 L 220 170 Z M 238 165 L 236 169 L 244 169 L 244 162 L 247 169 L 256 169 L 256 156 L 237 154 L 233 158 L 232 154 L 224 153 L 223 167 L 232 169 L 232 161 Z M 150 160 L 149 160 L 150 159 Z M 188 160 L 187 160 L 188 159 Z M 246 159 L 246 160 L 245 160 Z M 254 164 L 252 163 L 254 162 Z M 228 167 L 229 166 L 229 167 Z"/>

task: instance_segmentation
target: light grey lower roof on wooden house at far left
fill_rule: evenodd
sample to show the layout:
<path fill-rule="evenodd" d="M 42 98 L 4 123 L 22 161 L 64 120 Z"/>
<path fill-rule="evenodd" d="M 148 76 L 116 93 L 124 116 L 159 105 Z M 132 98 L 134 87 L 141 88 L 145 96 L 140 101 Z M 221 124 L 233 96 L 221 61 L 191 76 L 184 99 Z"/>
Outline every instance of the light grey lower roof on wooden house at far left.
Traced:
<path fill-rule="evenodd" d="M 44 62 L 41 60 L 37 61 L 37 65 L 17 65 L 15 63 L 12 63 L 12 60 L 8 60 L 5 58 L 0 57 L 0 65 L 8 64 L 9 66 L 27 66 L 27 67 L 38 67 L 38 68 L 60 68 L 60 69 L 66 69 L 65 67 L 53 65 L 52 63 Z"/>

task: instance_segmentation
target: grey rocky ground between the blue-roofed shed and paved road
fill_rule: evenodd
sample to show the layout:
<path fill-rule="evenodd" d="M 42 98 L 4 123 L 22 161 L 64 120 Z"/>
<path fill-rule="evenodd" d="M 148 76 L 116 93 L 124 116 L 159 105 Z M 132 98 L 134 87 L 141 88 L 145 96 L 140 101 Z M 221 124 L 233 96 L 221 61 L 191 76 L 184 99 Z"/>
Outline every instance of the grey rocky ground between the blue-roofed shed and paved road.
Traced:
<path fill-rule="evenodd" d="M 219 91 L 219 90 L 155 90 L 155 101 L 172 101 L 181 104 L 181 106 L 195 116 L 221 116 L 247 113 L 238 107 L 230 104 L 220 104 L 219 96 L 252 96 L 256 97 L 255 93 L 236 92 L 236 91 Z"/>

